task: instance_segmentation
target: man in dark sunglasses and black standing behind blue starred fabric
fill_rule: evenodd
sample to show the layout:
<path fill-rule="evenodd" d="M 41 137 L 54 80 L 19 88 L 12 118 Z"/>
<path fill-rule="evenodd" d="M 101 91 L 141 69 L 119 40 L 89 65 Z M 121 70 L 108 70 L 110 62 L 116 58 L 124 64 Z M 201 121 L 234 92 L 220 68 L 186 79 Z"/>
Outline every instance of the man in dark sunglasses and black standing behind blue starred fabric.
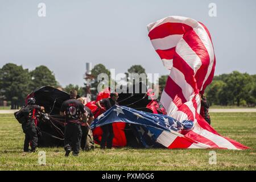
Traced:
<path fill-rule="evenodd" d="M 98 102 L 96 102 L 96 105 L 100 109 L 104 109 L 102 105 L 105 106 L 106 110 L 110 109 L 114 105 L 119 105 L 117 102 L 118 99 L 118 93 L 111 93 L 110 98 L 104 98 Z M 107 125 L 101 126 L 101 129 L 103 131 L 102 138 L 101 138 L 101 149 L 106 148 L 112 148 L 112 142 L 114 138 L 114 133 L 113 133 L 113 126 L 112 123 L 109 123 Z"/>

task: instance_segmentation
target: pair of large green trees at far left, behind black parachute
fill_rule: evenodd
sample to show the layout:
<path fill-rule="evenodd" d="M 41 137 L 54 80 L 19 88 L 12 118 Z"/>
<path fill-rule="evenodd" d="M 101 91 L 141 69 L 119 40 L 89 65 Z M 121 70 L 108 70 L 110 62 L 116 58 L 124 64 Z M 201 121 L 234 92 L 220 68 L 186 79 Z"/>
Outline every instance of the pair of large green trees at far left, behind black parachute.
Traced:
<path fill-rule="evenodd" d="M 0 68 L 0 97 L 10 101 L 11 109 L 18 109 L 32 90 L 45 85 L 58 87 L 59 83 L 53 72 L 44 65 L 32 71 L 13 63 Z"/>

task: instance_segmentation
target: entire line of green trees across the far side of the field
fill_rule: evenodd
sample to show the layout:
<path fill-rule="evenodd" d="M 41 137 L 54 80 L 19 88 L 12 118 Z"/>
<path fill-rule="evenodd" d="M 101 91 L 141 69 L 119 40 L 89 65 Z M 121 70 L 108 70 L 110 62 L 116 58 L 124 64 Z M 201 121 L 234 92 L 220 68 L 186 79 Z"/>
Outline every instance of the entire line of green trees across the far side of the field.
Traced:
<path fill-rule="evenodd" d="M 19 106 L 24 105 L 24 100 L 29 93 L 42 86 L 61 88 L 68 93 L 71 89 L 76 89 L 80 96 L 86 96 L 86 93 L 90 93 L 92 99 L 95 99 L 97 86 L 100 83 L 97 76 L 100 73 L 106 73 L 110 78 L 109 69 L 103 64 L 97 64 L 92 69 L 92 79 L 89 83 L 85 82 L 84 86 L 69 84 L 61 88 L 53 72 L 44 65 L 28 71 L 22 65 L 7 63 L 0 68 L 0 99 L 9 101 L 11 109 L 18 109 Z M 133 65 L 127 69 L 125 75 L 129 73 L 146 74 L 146 71 L 141 65 Z M 167 78 L 168 75 L 163 75 L 159 77 L 159 81 L 156 83 L 159 85 L 159 98 Z M 207 96 L 210 105 L 255 106 L 256 75 L 234 71 L 229 74 L 214 76 L 212 83 L 205 90 L 205 96 Z"/>

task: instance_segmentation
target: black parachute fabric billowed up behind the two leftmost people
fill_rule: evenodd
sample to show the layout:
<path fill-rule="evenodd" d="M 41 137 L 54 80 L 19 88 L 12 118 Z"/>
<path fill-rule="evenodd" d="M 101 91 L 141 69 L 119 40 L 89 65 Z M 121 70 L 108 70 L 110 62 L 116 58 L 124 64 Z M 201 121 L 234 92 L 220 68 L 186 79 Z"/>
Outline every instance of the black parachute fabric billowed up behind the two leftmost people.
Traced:
<path fill-rule="evenodd" d="M 51 116 L 49 119 L 39 118 L 38 128 L 42 136 L 39 136 L 38 145 L 41 147 L 63 146 L 65 119 L 59 114 L 60 107 L 69 99 L 69 94 L 51 86 L 43 86 L 27 96 L 27 98 L 30 97 L 35 98 L 36 105 L 44 106 L 46 113 Z"/>

